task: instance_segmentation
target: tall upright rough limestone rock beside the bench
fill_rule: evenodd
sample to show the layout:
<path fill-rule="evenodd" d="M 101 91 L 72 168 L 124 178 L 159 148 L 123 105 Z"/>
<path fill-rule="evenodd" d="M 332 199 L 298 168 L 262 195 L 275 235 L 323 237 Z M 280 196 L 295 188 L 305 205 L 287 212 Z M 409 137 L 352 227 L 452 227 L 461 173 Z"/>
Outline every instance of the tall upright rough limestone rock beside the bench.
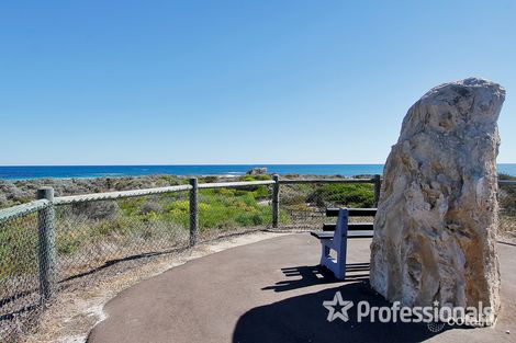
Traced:
<path fill-rule="evenodd" d="M 406 306 L 500 306 L 497 118 L 505 90 L 482 79 L 431 89 L 386 160 L 371 286 Z"/>

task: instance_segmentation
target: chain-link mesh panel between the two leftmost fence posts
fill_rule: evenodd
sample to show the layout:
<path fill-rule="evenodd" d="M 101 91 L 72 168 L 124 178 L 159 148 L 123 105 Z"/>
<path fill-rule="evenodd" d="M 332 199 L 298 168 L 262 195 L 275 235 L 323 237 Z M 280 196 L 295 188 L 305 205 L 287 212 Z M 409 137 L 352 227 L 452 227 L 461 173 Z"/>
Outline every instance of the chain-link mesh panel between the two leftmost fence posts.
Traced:
<path fill-rule="evenodd" d="M 61 283 L 188 248 L 188 191 L 56 207 Z"/>

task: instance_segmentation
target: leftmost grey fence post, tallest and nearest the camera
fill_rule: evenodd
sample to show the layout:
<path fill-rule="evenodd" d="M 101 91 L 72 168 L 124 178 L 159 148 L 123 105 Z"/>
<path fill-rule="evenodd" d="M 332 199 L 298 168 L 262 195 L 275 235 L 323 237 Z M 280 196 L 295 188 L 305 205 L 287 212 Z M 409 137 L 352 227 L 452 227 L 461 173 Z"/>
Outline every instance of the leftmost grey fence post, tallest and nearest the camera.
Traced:
<path fill-rule="evenodd" d="M 38 199 L 54 202 L 54 188 L 44 187 L 36 192 Z M 51 205 L 37 213 L 40 294 L 44 302 L 52 296 L 56 273 L 55 213 Z"/>

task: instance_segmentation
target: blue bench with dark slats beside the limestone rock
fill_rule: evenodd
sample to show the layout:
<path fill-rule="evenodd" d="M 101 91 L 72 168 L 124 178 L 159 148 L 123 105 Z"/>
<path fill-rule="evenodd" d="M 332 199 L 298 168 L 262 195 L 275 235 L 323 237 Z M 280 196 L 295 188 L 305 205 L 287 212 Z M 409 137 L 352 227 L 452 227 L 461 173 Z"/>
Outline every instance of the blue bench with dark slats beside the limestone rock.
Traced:
<path fill-rule="evenodd" d="M 330 270 L 338 279 L 346 278 L 347 241 L 351 238 L 372 238 L 372 222 L 348 222 L 349 217 L 374 217 L 377 208 L 328 208 L 327 217 L 337 217 L 337 224 L 324 224 L 322 231 L 312 231 L 321 241 L 321 265 Z M 334 250 L 336 258 L 330 256 Z"/>

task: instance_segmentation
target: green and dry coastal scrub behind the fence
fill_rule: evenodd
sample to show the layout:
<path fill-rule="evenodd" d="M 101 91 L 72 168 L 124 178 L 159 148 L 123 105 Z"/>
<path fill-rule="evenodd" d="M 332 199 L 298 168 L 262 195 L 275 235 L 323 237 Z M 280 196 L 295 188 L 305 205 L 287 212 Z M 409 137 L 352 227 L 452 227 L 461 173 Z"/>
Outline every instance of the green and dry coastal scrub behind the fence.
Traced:
<path fill-rule="evenodd" d="M 270 175 L 267 174 L 240 178 L 204 176 L 200 178 L 199 182 L 269 179 Z M 516 180 L 516 178 L 501 175 L 501 180 Z M 72 195 L 186 183 L 188 183 L 187 178 L 171 175 L 0 181 L 0 204 L 7 207 L 29 202 L 34 198 L 35 190 L 41 186 L 53 186 L 57 195 Z M 295 227 L 295 224 L 302 220 L 306 225 L 319 225 L 324 219 L 324 209 L 328 206 L 374 206 L 373 186 L 367 183 L 284 184 L 280 190 L 279 220 L 282 227 Z M 503 209 L 501 216 L 503 230 L 515 231 L 516 186 L 501 188 L 500 204 Z M 200 190 L 198 207 L 201 240 L 225 232 L 266 228 L 271 225 L 272 218 L 271 187 L 259 185 Z M 309 219 L 314 217 L 316 220 Z M 58 206 L 56 220 L 56 249 L 63 256 L 99 254 L 99 251 L 103 251 L 103 260 L 109 260 L 133 251 L 152 252 L 164 248 L 186 247 L 189 239 L 189 192 Z M 35 273 L 36 247 L 35 214 L 1 225 L 0 284 L 2 279 L 14 274 Z"/>

